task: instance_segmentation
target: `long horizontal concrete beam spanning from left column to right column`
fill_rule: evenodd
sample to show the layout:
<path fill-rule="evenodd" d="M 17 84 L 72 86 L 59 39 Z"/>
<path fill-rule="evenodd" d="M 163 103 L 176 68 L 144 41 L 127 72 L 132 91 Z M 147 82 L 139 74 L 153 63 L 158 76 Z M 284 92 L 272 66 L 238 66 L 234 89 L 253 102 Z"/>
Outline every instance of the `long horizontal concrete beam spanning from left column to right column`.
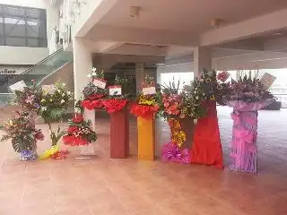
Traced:
<path fill-rule="evenodd" d="M 86 38 L 155 46 L 198 46 L 197 37 L 178 31 L 119 28 L 109 25 L 95 26 Z"/>

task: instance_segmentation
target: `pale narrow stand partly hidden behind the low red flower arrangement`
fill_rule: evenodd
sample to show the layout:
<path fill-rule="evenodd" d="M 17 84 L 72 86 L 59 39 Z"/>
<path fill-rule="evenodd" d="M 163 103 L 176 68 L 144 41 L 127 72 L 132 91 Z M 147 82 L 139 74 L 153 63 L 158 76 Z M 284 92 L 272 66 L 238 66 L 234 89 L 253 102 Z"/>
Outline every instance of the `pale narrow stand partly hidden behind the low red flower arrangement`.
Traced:
<path fill-rule="evenodd" d="M 84 120 L 91 120 L 91 127 L 93 131 L 96 131 L 96 111 L 95 109 L 87 109 L 84 108 L 83 111 Z M 89 143 L 88 145 L 80 146 L 80 154 L 81 155 L 95 155 L 95 144 Z"/>

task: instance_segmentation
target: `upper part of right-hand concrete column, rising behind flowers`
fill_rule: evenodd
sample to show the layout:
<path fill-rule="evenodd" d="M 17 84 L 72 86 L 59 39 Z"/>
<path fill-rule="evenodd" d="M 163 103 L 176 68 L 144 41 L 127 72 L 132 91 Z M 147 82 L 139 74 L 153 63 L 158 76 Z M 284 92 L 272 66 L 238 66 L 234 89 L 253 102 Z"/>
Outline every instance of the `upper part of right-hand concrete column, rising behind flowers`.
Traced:
<path fill-rule="evenodd" d="M 203 68 L 212 70 L 212 50 L 209 47 L 195 47 L 194 49 L 194 73 L 198 77 L 203 72 Z"/>

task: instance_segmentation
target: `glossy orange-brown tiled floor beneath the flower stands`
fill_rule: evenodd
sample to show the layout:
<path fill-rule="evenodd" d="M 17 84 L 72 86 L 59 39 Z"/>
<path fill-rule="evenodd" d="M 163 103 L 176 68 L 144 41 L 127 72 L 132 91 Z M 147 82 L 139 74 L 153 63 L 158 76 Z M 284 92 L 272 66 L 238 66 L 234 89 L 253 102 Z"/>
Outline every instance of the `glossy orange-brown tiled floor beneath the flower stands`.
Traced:
<path fill-rule="evenodd" d="M 225 162 L 230 109 L 219 107 Z M 98 121 L 97 156 L 21 162 L 0 145 L 0 215 L 285 215 L 287 111 L 260 111 L 257 176 L 197 165 L 109 159 L 109 120 Z M 45 129 L 47 126 L 40 125 Z M 135 122 L 130 125 L 135 154 Z M 169 139 L 163 123 L 159 142 Z M 49 142 L 39 143 L 39 151 Z"/>

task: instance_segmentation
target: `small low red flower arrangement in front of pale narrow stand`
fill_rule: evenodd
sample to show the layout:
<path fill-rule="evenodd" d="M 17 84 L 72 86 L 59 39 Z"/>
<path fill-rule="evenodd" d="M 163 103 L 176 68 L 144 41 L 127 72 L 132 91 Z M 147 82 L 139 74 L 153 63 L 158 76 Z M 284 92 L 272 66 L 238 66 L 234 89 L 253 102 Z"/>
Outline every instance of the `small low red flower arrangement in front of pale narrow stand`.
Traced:
<path fill-rule="evenodd" d="M 97 134 L 91 129 L 91 121 L 84 121 L 82 114 L 75 113 L 69 120 L 68 133 L 63 137 L 65 145 L 80 146 L 96 142 Z"/>

